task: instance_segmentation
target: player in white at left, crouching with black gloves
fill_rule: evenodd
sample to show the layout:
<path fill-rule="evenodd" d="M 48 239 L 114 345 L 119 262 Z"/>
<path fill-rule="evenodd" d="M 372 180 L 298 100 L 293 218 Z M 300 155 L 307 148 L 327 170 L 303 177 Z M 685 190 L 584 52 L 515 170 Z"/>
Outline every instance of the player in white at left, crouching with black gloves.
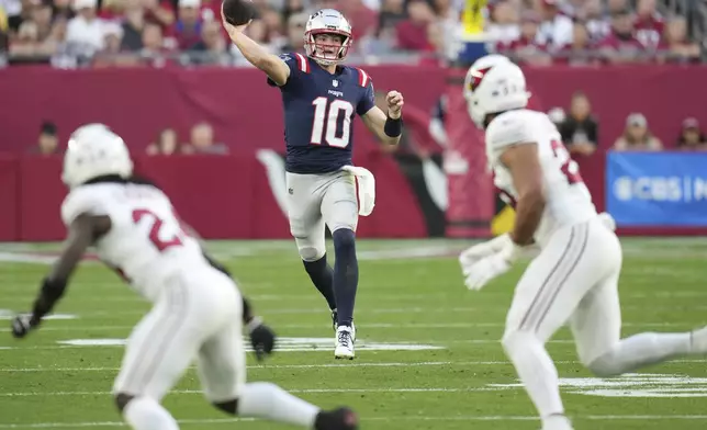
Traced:
<path fill-rule="evenodd" d="M 23 338 L 40 327 L 92 245 L 153 303 L 130 336 L 113 387 L 133 429 L 179 428 L 160 400 L 194 359 L 206 397 L 225 412 L 311 429 L 358 428 L 350 409 L 323 411 L 277 385 L 246 384 L 243 320 L 249 320 L 250 340 L 260 353 L 272 351 L 274 335 L 258 318 L 244 318 L 247 302 L 225 270 L 184 231 L 169 199 L 133 180 L 132 172 L 125 144 L 104 125 L 89 124 L 71 135 L 63 172 L 70 192 L 61 206 L 68 238 L 33 312 L 12 321 L 13 336 Z"/>

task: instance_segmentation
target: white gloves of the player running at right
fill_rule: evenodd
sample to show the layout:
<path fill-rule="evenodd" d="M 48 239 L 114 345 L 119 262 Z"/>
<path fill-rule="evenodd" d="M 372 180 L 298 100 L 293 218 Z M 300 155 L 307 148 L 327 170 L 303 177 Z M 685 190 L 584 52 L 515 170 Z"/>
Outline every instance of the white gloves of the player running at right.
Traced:
<path fill-rule="evenodd" d="M 473 291 L 483 288 L 489 281 L 506 273 L 521 250 L 523 248 L 514 244 L 507 234 L 468 249 L 464 251 L 467 262 L 461 262 L 460 256 L 464 285 Z"/>

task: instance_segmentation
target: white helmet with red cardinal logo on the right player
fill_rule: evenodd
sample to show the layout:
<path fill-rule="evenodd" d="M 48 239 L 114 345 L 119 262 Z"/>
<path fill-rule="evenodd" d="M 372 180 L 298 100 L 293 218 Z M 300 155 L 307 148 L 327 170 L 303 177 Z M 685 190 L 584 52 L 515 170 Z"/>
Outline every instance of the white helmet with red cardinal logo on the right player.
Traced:
<path fill-rule="evenodd" d="M 503 55 L 479 58 L 467 71 L 464 99 L 476 126 L 484 126 L 486 115 L 528 105 L 523 70 Z"/>

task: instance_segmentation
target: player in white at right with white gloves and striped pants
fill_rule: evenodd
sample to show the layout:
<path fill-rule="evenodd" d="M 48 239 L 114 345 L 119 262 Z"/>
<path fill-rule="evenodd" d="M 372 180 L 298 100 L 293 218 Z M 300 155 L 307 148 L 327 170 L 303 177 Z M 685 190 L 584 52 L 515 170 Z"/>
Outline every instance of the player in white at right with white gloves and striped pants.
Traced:
<path fill-rule="evenodd" d="M 598 376 L 707 353 L 707 328 L 620 339 L 622 253 L 613 219 L 597 215 L 552 122 L 525 109 L 523 71 L 506 58 L 479 59 L 467 75 L 464 95 L 472 120 L 486 129 L 494 182 L 515 205 L 516 220 L 510 234 L 471 247 L 460 262 L 467 286 L 480 290 L 532 242 L 540 248 L 515 288 L 502 343 L 542 429 L 572 429 L 545 347 L 566 322 L 580 361 Z"/>

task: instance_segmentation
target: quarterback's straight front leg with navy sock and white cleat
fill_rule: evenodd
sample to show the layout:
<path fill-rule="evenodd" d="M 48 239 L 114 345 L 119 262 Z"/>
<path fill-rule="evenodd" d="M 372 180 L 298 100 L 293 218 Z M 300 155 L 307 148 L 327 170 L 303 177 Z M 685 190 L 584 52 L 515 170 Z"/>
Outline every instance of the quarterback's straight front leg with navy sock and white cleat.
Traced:
<path fill-rule="evenodd" d="M 338 172 L 322 200 L 322 215 L 332 230 L 334 240 L 334 294 L 338 312 L 334 357 L 352 360 L 356 327 L 354 307 L 358 290 L 358 259 L 356 257 L 356 227 L 358 200 L 354 177 Z"/>

